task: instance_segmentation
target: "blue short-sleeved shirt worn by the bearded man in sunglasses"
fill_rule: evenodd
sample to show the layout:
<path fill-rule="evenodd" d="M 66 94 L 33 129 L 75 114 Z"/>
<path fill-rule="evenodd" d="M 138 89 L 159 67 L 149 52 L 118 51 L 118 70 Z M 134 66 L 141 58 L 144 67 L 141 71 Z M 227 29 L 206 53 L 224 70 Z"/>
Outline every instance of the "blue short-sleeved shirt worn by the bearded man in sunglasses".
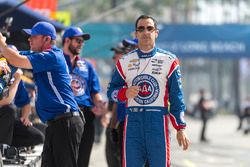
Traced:
<path fill-rule="evenodd" d="M 72 77 L 71 85 L 77 104 L 80 107 L 93 107 L 91 94 L 101 91 L 96 71 L 90 62 L 79 56 L 76 57 L 74 66 L 71 64 L 70 57 L 66 54 L 64 56 Z"/>

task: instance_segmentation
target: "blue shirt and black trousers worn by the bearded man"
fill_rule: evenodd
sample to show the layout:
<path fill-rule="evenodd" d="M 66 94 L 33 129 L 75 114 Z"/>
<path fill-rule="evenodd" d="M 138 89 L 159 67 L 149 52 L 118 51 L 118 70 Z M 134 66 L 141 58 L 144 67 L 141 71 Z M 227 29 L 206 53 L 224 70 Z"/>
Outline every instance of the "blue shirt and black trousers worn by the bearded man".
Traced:
<path fill-rule="evenodd" d="M 90 62 L 76 56 L 75 64 L 71 64 L 70 57 L 66 54 L 64 55 L 72 77 L 71 86 L 75 100 L 86 119 L 85 130 L 79 148 L 79 157 L 81 158 L 78 159 L 78 166 L 88 166 L 95 135 L 95 115 L 91 111 L 94 104 L 91 95 L 99 93 L 101 88 L 98 76 Z"/>

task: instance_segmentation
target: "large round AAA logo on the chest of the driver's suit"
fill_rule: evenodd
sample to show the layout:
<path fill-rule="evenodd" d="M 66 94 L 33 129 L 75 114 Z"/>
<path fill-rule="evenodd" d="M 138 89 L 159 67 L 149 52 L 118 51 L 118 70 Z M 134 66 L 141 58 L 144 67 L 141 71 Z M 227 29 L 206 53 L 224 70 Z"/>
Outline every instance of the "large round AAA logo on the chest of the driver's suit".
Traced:
<path fill-rule="evenodd" d="M 142 74 L 136 76 L 132 85 L 140 87 L 139 94 L 134 100 L 141 105 L 151 104 L 159 96 L 159 84 L 157 80 L 150 75 Z"/>

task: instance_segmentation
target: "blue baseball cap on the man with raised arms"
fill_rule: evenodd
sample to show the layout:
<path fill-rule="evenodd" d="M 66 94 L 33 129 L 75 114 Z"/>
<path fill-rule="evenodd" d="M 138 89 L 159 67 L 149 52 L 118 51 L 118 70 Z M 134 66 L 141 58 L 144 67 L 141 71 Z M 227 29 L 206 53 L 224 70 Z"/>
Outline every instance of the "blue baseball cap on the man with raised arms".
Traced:
<path fill-rule="evenodd" d="M 56 29 L 55 27 L 45 21 L 37 22 L 32 29 L 23 29 L 23 32 L 25 32 L 28 35 L 48 35 L 51 37 L 52 40 L 56 39 Z"/>

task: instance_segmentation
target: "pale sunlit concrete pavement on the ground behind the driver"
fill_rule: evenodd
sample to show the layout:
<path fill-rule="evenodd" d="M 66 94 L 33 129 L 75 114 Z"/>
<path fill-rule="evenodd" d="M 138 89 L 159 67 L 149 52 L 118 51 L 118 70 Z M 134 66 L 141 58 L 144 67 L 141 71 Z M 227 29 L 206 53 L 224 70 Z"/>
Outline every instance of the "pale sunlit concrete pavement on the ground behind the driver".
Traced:
<path fill-rule="evenodd" d="M 199 141 L 201 121 L 187 118 L 187 134 L 191 139 L 188 151 L 176 143 L 175 131 L 172 131 L 171 159 L 172 167 L 249 167 L 250 135 L 236 131 L 238 119 L 234 115 L 217 115 L 208 122 L 207 137 L 209 143 Z M 94 145 L 90 167 L 107 167 L 105 159 L 105 137 L 99 145 Z"/>

